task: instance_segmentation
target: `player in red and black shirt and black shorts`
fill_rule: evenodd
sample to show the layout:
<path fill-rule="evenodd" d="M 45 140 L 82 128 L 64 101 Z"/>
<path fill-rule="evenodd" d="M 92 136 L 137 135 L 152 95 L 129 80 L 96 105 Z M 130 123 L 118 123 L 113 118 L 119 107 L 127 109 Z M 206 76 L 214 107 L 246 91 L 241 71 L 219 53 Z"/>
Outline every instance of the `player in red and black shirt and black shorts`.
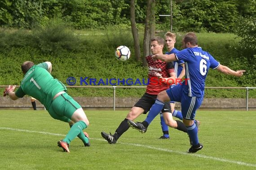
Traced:
<path fill-rule="evenodd" d="M 164 39 L 155 37 L 150 39 L 152 54 L 163 54 Z M 154 104 L 157 94 L 170 87 L 171 81 L 175 80 L 175 72 L 173 64 L 162 62 L 160 60 L 153 61 L 151 56 L 146 57 L 148 63 L 148 78 L 149 84 L 146 88 L 146 93 L 141 99 L 132 107 L 126 118 L 120 123 L 115 130 L 115 134 L 107 134 L 102 132 L 102 137 L 108 141 L 109 144 L 115 144 L 119 137 L 128 130 L 128 120 L 134 120 L 141 114 L 146 114 L 151 106 Z M 168 81 L 168 83 L 166 83 Z M 171 114 L 170 103 L 166 102 L 162 110 L 166 124 L 170 127 L 177 128 L 183 132 L 187 132 L 185 125 L 179 120 L 173 120 Z"/>

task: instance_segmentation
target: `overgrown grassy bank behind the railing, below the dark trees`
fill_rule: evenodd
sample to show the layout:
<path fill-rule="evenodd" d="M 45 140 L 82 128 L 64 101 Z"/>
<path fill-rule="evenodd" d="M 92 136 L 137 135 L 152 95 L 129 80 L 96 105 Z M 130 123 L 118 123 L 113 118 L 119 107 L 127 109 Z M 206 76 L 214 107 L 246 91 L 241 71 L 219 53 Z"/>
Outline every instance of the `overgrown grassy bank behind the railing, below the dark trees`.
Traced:
<path fill-rule="evenodd" d="M 113 32 L 112 30 L 119 31 Z M 159 36 L 163 36 L 163 34 L 164 32 L 160 32 Z M 177 34 L 177 49 L 181 49 L 182 34 Z M 221 64 L 233 69 L 246 69 L 248 71 L 243 78 L 237 78 L 211 70 L 207 77 L 206 86 L 256 86 L 256 75 L 252 74 L 253 71 L 247 67 L 247 63 L 238 59 L 238 53 L 233 49 L 234 43 L 240 41 L 235 37 L 234 34 L 198 34 L 199 46 L 209 51 Z M 143 68 L 140 62 L 136 62 L 133 55 L 126 62 L 119 62 L 115 59 L 115 48 L 121 44 L 128 46 L 132 54 L 134 53 L 130 30 L 113 27 L 104 31 L 81 31 L 54 24 L 48 25 L 44 29 L 38 28 L 30 31 L 1 30 L 0 85 L 19 85 L 22 79 L 20 65 L 26 60 L 35 63 L 51 61 L 53 63 L 53 76 L 65 84 L 66 79 L 70 76 L 76 78 L 76 85 L 80 85 L 80 77 L 97 80 L 101 78 L 103 80 L 106 78 L 146 79 L 147 68 Z M 256 96 L 255 91 L 250 92 L 250 97 Z M 73 96 L 112 96 L 113 94 L 112 89 L 69 88 L 69 92 Z M 116 95 L 139 97 L 144 92 L 144 88 L 117 89 Z M 218 92 L 221 93 L 207 89 L 206 97 L 245 97 L 245 90 L 219 90 Z"/>

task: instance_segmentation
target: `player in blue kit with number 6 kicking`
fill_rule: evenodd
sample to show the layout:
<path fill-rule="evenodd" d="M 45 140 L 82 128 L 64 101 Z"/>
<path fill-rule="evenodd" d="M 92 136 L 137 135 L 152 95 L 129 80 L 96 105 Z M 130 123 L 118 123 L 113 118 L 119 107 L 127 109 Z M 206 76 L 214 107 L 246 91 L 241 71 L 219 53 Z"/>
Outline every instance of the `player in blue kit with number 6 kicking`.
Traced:
<path fill-rule="evenodd" d="M 194 119 L 196 110 L 203 102 L 205 80 L 209 68 L 231 76 L 243 76 L 245 70 L 234 71 L 227 66 L 221 65 L 212 55 L 198 47 L 197 37 L 194 33 L 185 34 L 182 39 L 182 45 L 184 50 L 176 54 L 152 55 L 152 59 L 160 59 L 165 62 L 185 61 L 185 77 L 188 81 L 160 92 L 146 119 L 142 123 L 134 123 L 129 120 L 128 124 L 140 132 L 146 132 L 149 124 L 163 108 L 163 102 L 170 100 L 181 102 L 183 123 L 188 129 L 190 140 L 192 140 L 191 147 L 187 152 L 195 153 L 203 149 L 203 144 L 199 143 L 198 128 L 194 123 Z"/>

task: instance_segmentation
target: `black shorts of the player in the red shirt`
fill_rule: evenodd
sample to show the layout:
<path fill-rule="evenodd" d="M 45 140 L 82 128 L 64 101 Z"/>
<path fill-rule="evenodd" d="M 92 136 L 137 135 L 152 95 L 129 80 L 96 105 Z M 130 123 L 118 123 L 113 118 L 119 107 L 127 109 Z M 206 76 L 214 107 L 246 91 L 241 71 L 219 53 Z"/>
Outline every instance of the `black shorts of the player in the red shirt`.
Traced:
<path fill-rule="evenodd" d="M 146 114 L 150 110 L 152 105 L 154 104 L 156 97 L 157 97 L 157 95 L 145 93 L 141 97 L 141 99 L 137 103 L 135 103 L 134 106 L 141 107 L 142 109 L 144 109 L 143 114 Z M 164 102 L 162 113 L 164 113 L 164 112 L 172 113 L 170 102 Z"/>

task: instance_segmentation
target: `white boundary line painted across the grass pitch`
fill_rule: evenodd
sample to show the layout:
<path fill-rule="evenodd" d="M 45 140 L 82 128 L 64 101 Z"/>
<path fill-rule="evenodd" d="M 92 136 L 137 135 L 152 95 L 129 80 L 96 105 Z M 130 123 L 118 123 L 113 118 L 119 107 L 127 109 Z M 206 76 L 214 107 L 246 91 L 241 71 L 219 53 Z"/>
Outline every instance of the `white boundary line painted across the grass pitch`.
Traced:
<path fill-rule="evenodd" d="M 21 131 L 21 132 L 29 132 L 29 133 L 42 133 L 42 134 L 53 135 L 53 136 L 66 136 L 66 135 L 62 135 L 62 134 L 58 134 L 58 133 L 38 132 L 38 131 L 31 131 L 31 130 L 24 130 L 24 129 L 15 129 L 15 128 L 9 128 L 9 127 L 0 127 L 0 129 L 7 129 L 7 130 Z M 105 141 L 103 139 L 94 139 L 94 138 L 90 138 L 90 139 L 91 140 L 102 140 L 102 141 Z M 193 157 L 202 157 L 202 158 L 205 158 L 205 159 L 212 159 L 212 160 L 221 161 L 221 162 L 229 162 L 229 163 L 243 165 L 243 166 L 256 167 L 256 164 L 252 164 L 252 163 L 246 163 L 246 162 L 242 162 L 242 161 L 232 161 L 232 160 L 228 160 L 228 159 L 224 159 L 224 158 L 219 158 L 219 157 L 210 157 L 210 156 L 201 155 L 201 154 L 198 154 L 198 153 L 185 153 L 185 152 L 174 151 L 174 150 L 169 150 L 169 149 L 156 148 L 156 147 L 153 147 L 153 146 L 150 146 L 150 145 L 143 145 L 143 144 L 132 144 L 132 143 L 124 143 L 124 142 L 118 142 L 118 143 L 119 144 L 128 144 L 128 145 L 137 146 L 137 147 L 144 147 L 144 148 L 154 149 L 154 150 L 159 150 L 159 151 L 164 151 L 164 152 L 178 153 L 178 154 L 181 154 L 181 155 L 188 155 L 188 156 L 193 156 Z"/>

